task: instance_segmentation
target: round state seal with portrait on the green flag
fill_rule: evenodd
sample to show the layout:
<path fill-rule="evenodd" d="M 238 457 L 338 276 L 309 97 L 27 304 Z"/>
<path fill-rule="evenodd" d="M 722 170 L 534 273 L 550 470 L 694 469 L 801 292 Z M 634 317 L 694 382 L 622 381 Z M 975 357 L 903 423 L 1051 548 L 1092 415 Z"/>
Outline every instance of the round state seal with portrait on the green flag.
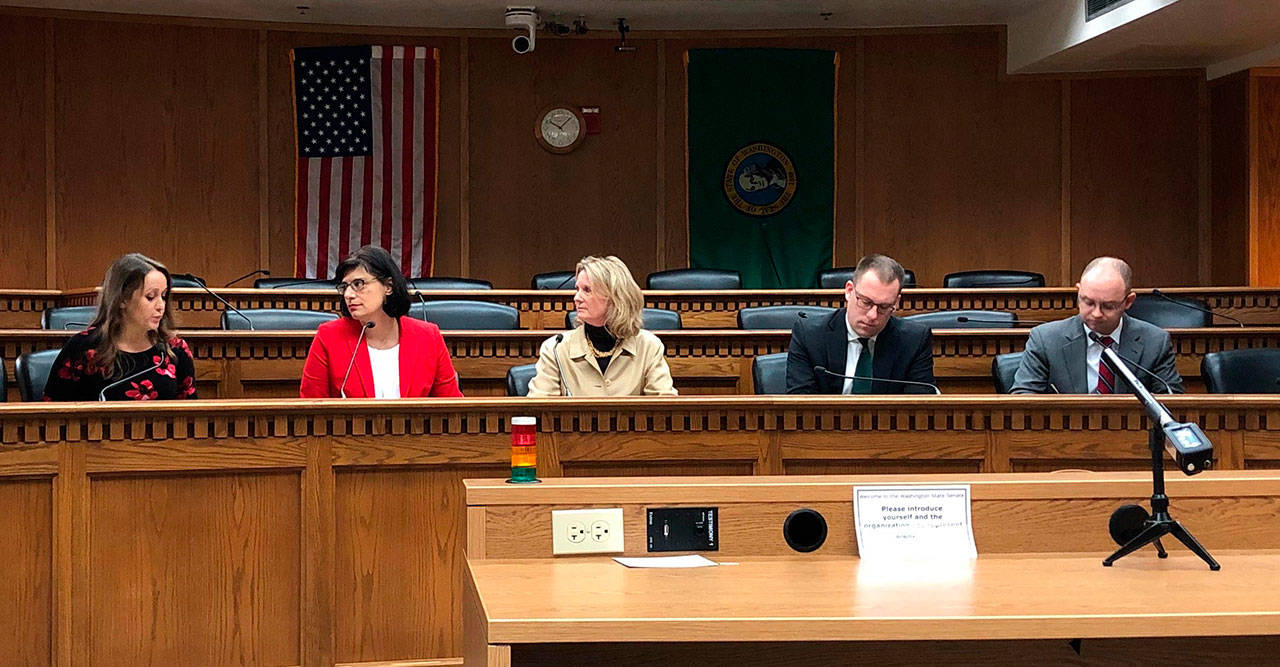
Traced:
<path fill-rule="evenodd" d="M 782 149 L 749 143 L 724 165 L 722 186 L 735 209 L 748 215 L 773 215 L 796 193 L 796 168 Z"/>

